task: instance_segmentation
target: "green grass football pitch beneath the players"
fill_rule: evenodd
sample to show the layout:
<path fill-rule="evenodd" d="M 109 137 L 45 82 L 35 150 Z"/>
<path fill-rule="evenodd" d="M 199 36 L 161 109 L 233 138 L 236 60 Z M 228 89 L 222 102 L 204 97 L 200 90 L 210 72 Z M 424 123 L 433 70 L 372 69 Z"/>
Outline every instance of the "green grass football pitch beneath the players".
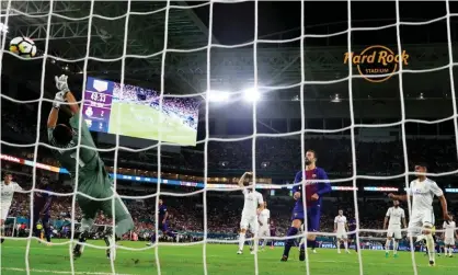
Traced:
<path fill-rule="evenodd" d="M 59 242 L 59 240 L 55 240 L 55 242 Z M 104 245 L 103 241 L 90 241 L 90 243 Z M 153 248 L 145 250 L 145 242 L 124 241 L 119 244 L 142 250 L 118 249 L 114 263 L 116 274 L 158 274 Z M 254 256 L 250 254 L 247 247 L 243 255 L 236 254 L 237 247 L 234 244 L 207 244 L 206 248 L 207 274 L 254 274 Z M 25 251 L 25 240 L 7 240 L 1 245 L 1 274 L 26 274 Z M 260 252 L 257 254 L 259 274 L 307 274 L 306 263 L 297 260 L 297 249 L 291 250 L 290 260 L 286 263 L 279 262 L 282 252 L 283 248 L 266 249 L 266 251 Z M 163 275 L 204 274 L 203 244 L 160 244 L 158 256 Z M 413 274 L 411 254 L 408 252 L 400 252 L 398 259 L 392 256 L 386 259 L 383 251 L 364 250 L 362 257 L 364 274 L 367 275 Z M 415 253 L 415 259 L 420 275 L 455 275 L 458 271 L 458 257 L 437 256 L 434 267 L 427 265 L 427 257 L 423 253 Z M 138 260 L 137 263 L 136 260 Z M 309 253 L 309 262 L 312 275 L 359 274 L 358 255 L 354 251 L 352 254 L 337 254 L 335 250 L 320 249 L 317 254 Z M 33 240 L 28 264 L 30 274 L 71 274 L 69 245 L 47 247 Z M 110 260 L 105 257 L 105 251 L 89 247 L 84 249 L 83 255 L 75 261 L 75 274 L 87 275 L 113 274 Z"/>

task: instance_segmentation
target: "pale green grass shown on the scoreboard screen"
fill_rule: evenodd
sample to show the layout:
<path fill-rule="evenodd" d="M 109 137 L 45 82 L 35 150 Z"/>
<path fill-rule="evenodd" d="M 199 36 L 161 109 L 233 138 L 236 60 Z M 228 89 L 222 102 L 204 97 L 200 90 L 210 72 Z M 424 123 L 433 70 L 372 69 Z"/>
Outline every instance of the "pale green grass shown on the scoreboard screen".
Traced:
<path fill-rule="evenodd" d="M 161 133 L 162 141 L 196 145 L 196 130 L 183 125 L 181 119 L 175 117 L 167 117 L 160 122 L 159 114 L 159 111 L 150 106 L 113 102 L 108 133 L 154 140 L 159 140 Z M 165 118 L 164 115 L 162 117 Z"/>

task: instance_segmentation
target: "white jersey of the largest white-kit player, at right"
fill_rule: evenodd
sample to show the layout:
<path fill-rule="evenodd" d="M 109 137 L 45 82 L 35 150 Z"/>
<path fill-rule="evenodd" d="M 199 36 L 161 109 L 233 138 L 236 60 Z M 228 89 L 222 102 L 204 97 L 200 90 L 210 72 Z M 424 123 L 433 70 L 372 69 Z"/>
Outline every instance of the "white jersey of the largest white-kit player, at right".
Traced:
<path fill-rule="evenodd" d="M 408 194 L 412 196 L 412 215 L 415 215 L 422 211 L 432 211 L 434 195 L 439 197 L 444 195 L 444 192 L 435 181 L 426 179 L 421 182 L 416 179 L 410 183 Z"/>

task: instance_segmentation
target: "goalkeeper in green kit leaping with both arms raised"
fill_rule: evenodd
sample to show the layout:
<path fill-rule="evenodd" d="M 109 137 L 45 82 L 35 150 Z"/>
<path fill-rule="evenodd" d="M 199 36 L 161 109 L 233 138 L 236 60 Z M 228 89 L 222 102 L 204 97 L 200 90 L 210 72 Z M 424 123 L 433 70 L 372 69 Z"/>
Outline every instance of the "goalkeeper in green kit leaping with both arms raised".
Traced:
<path fill-rule="evenodd" d="M 56 93 L 55 102 L 47 122 L 49 144 L 56 147 L 53 151 L 61 167 L 68 170 L 72 180 L 76 180 L 77 165 L 79 167 L 78 191 L 80 193 L 95 198 L 106 198 L 105 200 L 94 200 L 77 194 L 77 200 L 83 216 L 81 219 L 79 242 L 85 242 L 88 232 L 92 228 L 99 210 L 102 210 L 105 215 L 113 218 L 113 202 L 108 198 L 113 195 L 113 199 L 115 199 L 114 218 L 116 222 L 114 232 L 117 237 L 121 237 L 134 228 L 134 221 L 121 197 L 113 188 L 113 181 L 106 172 L 104 163 L 96 151 L 85 122 L 82 122 L 81 128 L 79 128 L 80 108 L 73 94 L 68 89 L 67 76 L 62 75 L 55 79 L 59 92 Z M 71 118 L 68 122 L 70 127 L 65 124 L 56 125 L 60 104 L 64 102 L 67 102 L 68 105 L 62 106 L 62 110 L 69 110 L 71 115 Z M 78 140 L 79 131 L 81 131 L 80 140 Z M 77 154 L 78 141 L 80 141 L 82 146 L 85 146 L 80 148 L 79 156 Z M 108 231 L 104 236 L 106 245 L 111 245 L 111 234 L 112 232 Z M 81 253 L 82 245 L 75 245 L 73 256 L 79 257 L 81 256 Z M 110 255 L 114 257 L 114 253 L 111 254 L 110 249 L 107 249 L 106 256 L 110 257 Z"/>

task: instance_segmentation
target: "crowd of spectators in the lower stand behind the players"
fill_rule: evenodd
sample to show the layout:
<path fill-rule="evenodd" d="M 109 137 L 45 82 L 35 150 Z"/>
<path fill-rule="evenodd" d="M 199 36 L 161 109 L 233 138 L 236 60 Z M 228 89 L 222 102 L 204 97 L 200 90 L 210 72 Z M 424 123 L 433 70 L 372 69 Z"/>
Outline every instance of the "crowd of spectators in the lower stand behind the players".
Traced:
<path fill-rule="evenodd" d="M 24 190 L 31 190 L 31 177 L 22 174 L 14 174 L 14 180 L 18 181 Z M 71 186 L 61 185 L 58 182 L 53 183 L 53 191 L 65 196 L 54 196 L 51 207 L 51 218 L 54 220 L 55 232 L 57 236 L 66 236 L 71 220 L 78 222 L 81 219 L 81 211 L 76 204 L 75 211 L 72 208 L 73 196 L 68 196 L 72 192 Z M 167 187 L 165 187 L 165 191 Z M 118 186 L 118 193 L 126 196 L 144 196 L 152 195 L 156 190 L 147 186 L 137 186 L 129 188 L 128 186 Z M 31 211 L 30 205 L 31 194 L 16 193 L 10 209 L 10 217 L 18 217 L 21 220 L 28 218 Z M 236 236 L 239 230 L 240 215 L 243 206 L 243 197 L 241 193 L 234 192 L 230 194 L 208 194 L 206 202 L 203 200 L 203 195 L 190 196 L 162 196 L 164 204 L 169 210 L 170 227 L 181 233 L 193 234 L 202 233 L 204 231 L 204 204 L 207 206 L 207 232 L 221 233 L 225 236 Z M 276 226 L 276 234 L 278 237 L 285 236 L 287 228 L 290 225 L 291 208 L 294 200 L 285 196 L 266 196 L 268 200 L 268 208 L 271 209 L 271 219 Z M 129 209 L 135 228 L 133 233 L 140 237 L 140 239 L 148 239 L 154 231 L 156 220 L 156 196 L 146 199 L 125 199 L 126 206 Z M 359 233 L 362 237 L 378 237 L 377 232 L 370 232 L 370 229 L 381 230 L 385 213 L 390 206 L 386 194 L 380 194 L 379 197 L 360 197 L 358 198 L 358 217 L 360 229 L 364 231 Z M 438 207 L 438 204 L 436 205 Z M 407 208 L 407 206 L 403 206 Z M 333 231 L 333 220 L 339 209 L 343 209 L 345 216 L 348 218 L 355 216 L 354 198 L 353 196 L 333 196 L 325 197 L 323 202 L 323 214 L 321 219 L 322 232 Z M 450 210 L 455 213 L 454 204 L 450 204 Z M 436 213 L 440 213 L 437 209 Z M 75 216 L 72 216 L 75 215 Z M 73 218 L 72 218 L 73 217 Z M 106 214 L 100 213 L 95 219 L 99 226 L 111 226 L 112 220 L 107 218 Z M 21 222 L 22 225 L 23 222 Z M 25 227 L 28 228 L 28 224 Z M 366 231 L 369 230 L 369 231 Z M 126 234 L 126 239 L 130 236 Z"/>

